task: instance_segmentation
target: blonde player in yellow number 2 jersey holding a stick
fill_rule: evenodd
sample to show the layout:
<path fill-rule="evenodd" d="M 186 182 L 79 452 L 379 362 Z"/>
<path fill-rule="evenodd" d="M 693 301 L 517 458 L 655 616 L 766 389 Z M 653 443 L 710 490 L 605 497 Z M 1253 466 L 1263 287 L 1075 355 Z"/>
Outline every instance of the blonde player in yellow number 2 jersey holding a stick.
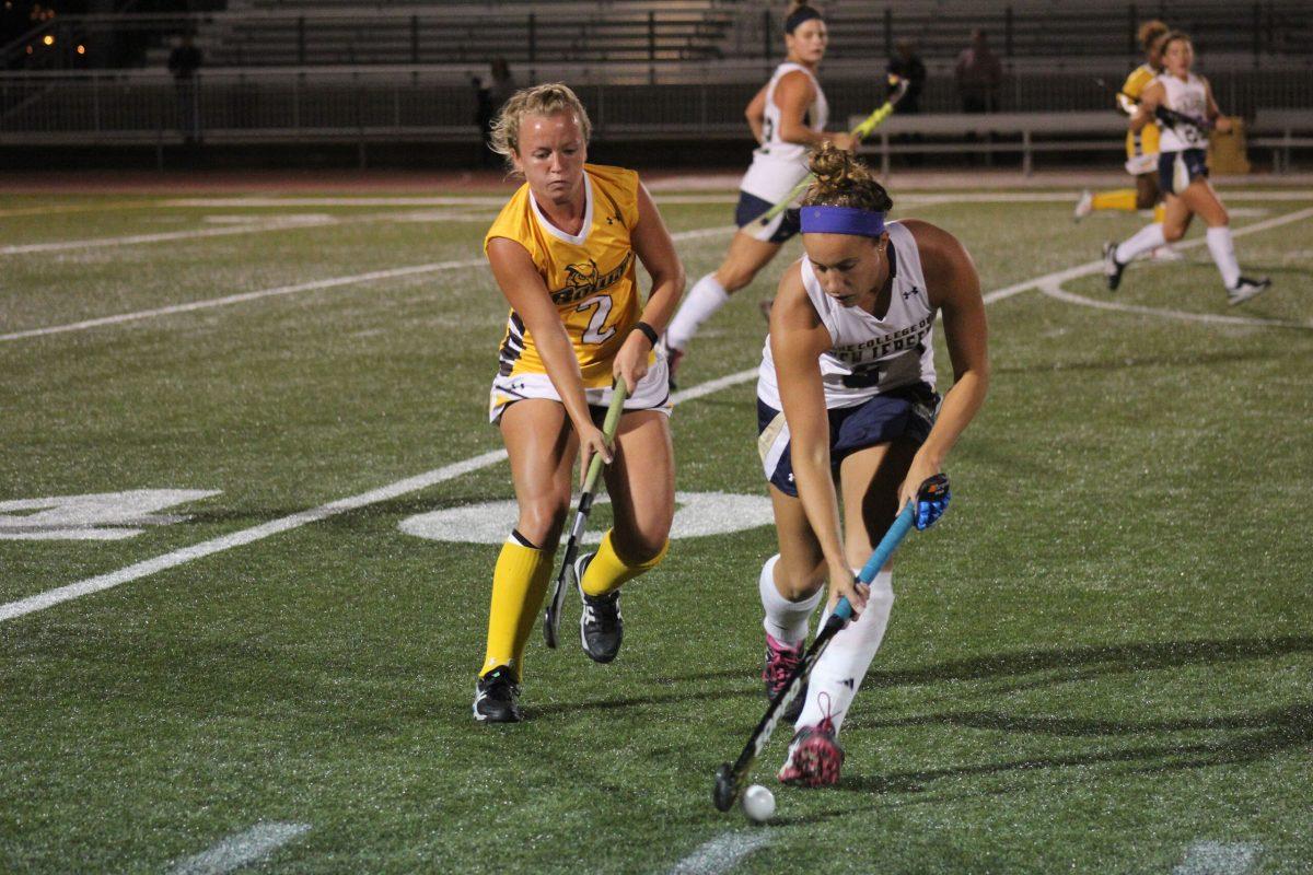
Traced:
<path fill-rule="evenodd" d="M 580 639 L 595 661 L 620 649 L 620 586 L 666 556 L 675 516 L 675 462 L 664 354 L 656 340 L 684 291 L 675 244 L 638 174 L 587 164 L 591 125 L 565 85 L 506 102 L 492 148 L 524 185 L 483 247 L 511 304 L 492 382 L 490 418 L 502 429 L 519 504 L 492 575 L 487 652 L 474 716 L 521 719 L 524 647 L 542 607 L 570 505 L 575 459 L 609 463 L 614 526 L 576 564 Z M 637 262 L 651 275 L 639 298 Z M 614 446 L 601 416 L 611 387 L 629 392 Z"/>

